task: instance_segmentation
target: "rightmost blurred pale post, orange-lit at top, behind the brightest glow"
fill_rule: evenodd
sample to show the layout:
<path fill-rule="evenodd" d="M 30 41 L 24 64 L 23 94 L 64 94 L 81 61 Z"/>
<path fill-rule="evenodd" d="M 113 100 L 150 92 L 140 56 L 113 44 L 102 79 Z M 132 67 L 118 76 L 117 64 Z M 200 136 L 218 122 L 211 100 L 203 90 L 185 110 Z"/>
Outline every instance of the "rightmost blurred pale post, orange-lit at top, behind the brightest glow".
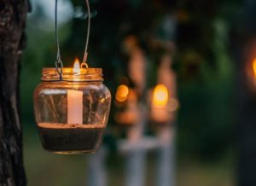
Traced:
<path fill-rule="evenodd" d="M 170 18 L 168 18 L 170 19 Z M 170 20 L 168 20 L 170 21 Z M 168 89 L 169 102 L 166 104 L 169 118 L 166 122 L 158 124 L 158 138 L 160 141 L 160 150 L 158 157 L 158 173 L 156 179 L 157 186 L 174 186 L 175 185 L 175 120 L 177 103 L 176 74 L 172 70 L 172 55 L 163 55 L 158 69 L 158 83 L 165 84 Z M 172 102 L 171 102 L 172 99 Z M 174 102 L 175 101 L 175 102 Z M 172 112 L 170 111 L 172 110 Z"/>

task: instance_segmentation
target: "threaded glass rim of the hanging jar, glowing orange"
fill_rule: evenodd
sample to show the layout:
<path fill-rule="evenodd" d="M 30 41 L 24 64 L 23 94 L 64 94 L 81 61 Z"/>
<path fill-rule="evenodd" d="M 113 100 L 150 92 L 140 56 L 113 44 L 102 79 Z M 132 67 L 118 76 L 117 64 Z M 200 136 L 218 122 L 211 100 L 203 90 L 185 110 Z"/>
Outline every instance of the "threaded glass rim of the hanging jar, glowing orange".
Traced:
<path fill-rule="evenodd" d="M 103 81 L 102 68 L 80 68 L 76 72 L 72 67 L 62 68 L 62 80 L 56 68 L 44 67 L 42 81 L 90 82 Z"/>

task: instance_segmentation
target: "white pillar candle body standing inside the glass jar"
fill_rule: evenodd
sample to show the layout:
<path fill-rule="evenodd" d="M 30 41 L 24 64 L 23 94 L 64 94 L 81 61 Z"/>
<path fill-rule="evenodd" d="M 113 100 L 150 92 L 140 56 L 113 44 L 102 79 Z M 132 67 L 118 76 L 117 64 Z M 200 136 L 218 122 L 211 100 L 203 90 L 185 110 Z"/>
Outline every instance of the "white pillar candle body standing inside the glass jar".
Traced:
<path fill-rule="evenodd" d="M 67 123 L 83 124 L 83 92 L 67 90 Z"/>

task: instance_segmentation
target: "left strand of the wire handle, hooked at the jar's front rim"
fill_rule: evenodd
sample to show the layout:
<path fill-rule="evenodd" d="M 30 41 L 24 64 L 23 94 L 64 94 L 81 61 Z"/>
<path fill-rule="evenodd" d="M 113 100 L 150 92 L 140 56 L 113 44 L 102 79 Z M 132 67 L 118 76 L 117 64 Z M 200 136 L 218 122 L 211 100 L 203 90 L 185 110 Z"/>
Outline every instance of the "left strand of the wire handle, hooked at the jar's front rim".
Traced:
<path fill-rule="evenodd" d="M 55 61 L 55 67 L 62 81 L 63 80 L 62 78 L 63 63 L 61 61 L 61 51 L 60 51 L 60 44 L 59 44 L 59 37 L 58 37 L 58 0 L 55 0 L 55 39 L 57 44 L 57 56 Z"/>

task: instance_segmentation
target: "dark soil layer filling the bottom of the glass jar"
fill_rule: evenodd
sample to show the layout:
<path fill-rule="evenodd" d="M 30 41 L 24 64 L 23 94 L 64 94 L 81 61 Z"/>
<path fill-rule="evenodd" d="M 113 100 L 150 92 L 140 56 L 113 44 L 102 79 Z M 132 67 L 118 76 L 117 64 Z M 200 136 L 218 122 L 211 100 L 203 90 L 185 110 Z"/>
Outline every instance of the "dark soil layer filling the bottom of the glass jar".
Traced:
<path fill-rule="evenodd" d="M 104 125 L 39 123 L 45 150 L 59 154 L 93 153 L 102 142 Z"/>

